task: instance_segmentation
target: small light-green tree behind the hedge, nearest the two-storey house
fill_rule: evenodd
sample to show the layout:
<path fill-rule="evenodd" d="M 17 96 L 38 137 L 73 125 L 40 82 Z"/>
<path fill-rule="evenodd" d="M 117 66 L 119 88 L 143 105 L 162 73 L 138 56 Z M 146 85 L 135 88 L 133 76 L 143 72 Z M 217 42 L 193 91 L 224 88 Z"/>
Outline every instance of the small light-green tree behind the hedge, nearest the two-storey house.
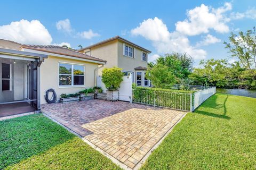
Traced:
<path fill-rule="evenodd" d="M 156 64 L 148 69 L 146 78 L 149 79 L 156 88 L 171 88 L 175 83 L 175 76 L 162 64 Z"/>

